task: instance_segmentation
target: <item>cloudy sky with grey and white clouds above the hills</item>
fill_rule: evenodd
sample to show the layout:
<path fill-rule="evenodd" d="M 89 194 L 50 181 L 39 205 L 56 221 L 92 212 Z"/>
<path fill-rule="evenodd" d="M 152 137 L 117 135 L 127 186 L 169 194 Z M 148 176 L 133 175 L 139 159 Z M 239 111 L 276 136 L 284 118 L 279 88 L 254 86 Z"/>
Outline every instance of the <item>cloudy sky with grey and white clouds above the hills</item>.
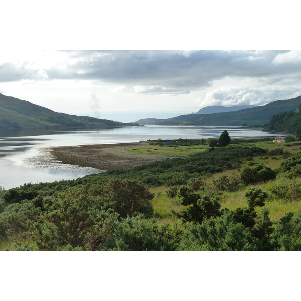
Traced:
<path fill-rule="evenodd" d="M 131 122 L 301 95 L 301 51 L 2 53 L 0 93 L 57 112 Z"/>

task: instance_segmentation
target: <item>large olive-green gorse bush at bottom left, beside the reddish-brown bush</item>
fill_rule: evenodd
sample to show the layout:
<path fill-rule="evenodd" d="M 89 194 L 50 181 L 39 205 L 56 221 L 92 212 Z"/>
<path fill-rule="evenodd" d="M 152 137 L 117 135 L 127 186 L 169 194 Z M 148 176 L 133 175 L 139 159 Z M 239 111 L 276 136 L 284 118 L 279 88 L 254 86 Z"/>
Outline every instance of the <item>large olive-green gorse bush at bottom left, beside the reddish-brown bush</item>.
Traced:
<path fill-rule="evenodd" d="M 100 211 L 92 198 L 69 193 L 59 196 L 29 225 L 40 250 L 62 247 L 99 249 L 117 219 L 113 210 Z"/>

